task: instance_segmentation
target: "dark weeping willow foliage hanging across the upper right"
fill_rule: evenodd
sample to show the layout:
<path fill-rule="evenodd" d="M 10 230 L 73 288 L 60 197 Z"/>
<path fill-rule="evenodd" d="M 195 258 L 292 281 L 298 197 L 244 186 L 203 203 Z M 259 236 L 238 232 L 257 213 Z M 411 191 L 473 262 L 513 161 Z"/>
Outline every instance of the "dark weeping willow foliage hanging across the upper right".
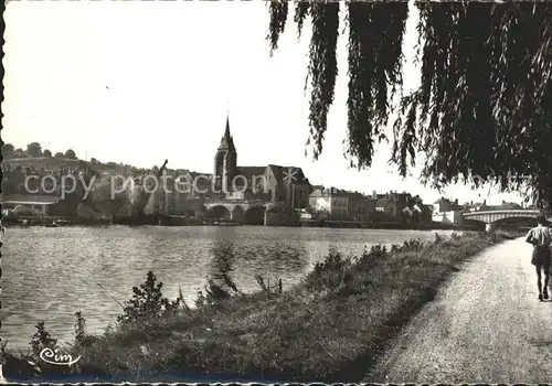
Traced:
<path fill-rule="evenodd" d="M 272 2 L 267 39 L 277 49 L 288 2 Z M 552 4 L 423 2 L 417 25 L 421 86 L 403 95 L 402 43 L 406 2 L 298 2 L 300 34 L 310 17 L 311 82 L 307 144 L 322 151 L 337 76 L 339 10 L 349 29 L 348 150 L 352 167 L 370 168 L 391 114 L 394 163 L 401 175 L 425 156 L 422 178 L 433 187 L 461 181 L 526 184 L 552 207 Z"/>

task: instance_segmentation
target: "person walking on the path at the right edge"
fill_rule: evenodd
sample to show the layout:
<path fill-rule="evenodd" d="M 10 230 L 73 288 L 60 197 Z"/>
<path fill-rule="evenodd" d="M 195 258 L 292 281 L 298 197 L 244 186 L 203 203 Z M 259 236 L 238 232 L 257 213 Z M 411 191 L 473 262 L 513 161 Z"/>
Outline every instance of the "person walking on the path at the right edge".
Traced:
<path fill-rule="evenodd" d="M 533 245 L 531 264 L 537 268 L 539 300 L 549 298 L 550 266 L 552 264 L 552 229 L 546 226 L 544 216 L 537 217 L 537 226 L 529 230 L 526 242 Z M 541 271 L 544 272 L 544 288 L 541 287 Z"/>

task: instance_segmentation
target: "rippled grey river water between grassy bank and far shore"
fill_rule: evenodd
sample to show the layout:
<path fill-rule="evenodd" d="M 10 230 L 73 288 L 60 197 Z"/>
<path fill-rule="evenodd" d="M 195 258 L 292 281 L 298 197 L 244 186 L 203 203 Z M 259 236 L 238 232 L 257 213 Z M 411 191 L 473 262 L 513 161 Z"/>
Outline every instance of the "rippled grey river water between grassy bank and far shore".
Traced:
<path fill-rule="evenodd" d="M 198 289 L 221 270 L 230 271 L 242 291 L 258 289 L 255 275 L 272 282 L 282 278 L 285 289 L 330 248 L 359 255 L 374 244 L 429 240 L 434 234 L 262 226 L 10 228 L 2 247 L 0 335 L 8 350 L 26 350 L 34 325 L 44 321 L 54 337 L 68 342 L 76 311 L 89 333 L 99 333 L 148 270 L 163 282 L 164 296 L 173 299 L 181 288 L 192 304 Z"/>

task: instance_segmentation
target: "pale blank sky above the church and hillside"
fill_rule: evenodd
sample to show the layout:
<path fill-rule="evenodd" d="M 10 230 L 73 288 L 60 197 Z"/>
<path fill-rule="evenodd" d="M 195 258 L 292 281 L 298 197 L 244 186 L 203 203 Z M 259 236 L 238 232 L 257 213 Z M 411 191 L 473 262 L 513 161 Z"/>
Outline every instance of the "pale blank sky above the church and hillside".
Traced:
<path fill-rule="evenodd" d="M 413 9 L 414 11 L 414 9 Z M 339 74 L 321 157 L 305 154 L 305 79 L 310 30 L 299 40 L 291 20 L 274 56 L 266 41 L 265 2 L 12 1 L 4 13 L 2 139 L 15 148 L 40 142 L 81 159 L 160 165 L 211 173 L 226 115 L 238 165 L 302 168 L 312 184 L 351 191 L 407 191 L 425 203 L 520 202 L 491 186 L 424 187 L 420 168 L 402 179 L 389 165 L 391 144 L 370 170 L 349 168 L 347 34 L 338 44 Z M 405 37 L 405 90 L 416 87 L 412 64 L 417 15 Z M 343 24 L 340 25 L 342 29 Z M 422 158 L 418 158 L 422 161 Z"/>

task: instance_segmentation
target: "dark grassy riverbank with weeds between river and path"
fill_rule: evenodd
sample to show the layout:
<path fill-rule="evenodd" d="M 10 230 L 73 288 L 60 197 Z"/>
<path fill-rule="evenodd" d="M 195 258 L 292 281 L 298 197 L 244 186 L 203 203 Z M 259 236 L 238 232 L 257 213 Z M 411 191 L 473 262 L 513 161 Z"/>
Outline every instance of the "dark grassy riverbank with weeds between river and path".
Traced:
<path fill-rule="evenodd" d="M 261 290 L 242 293 L 224 274 L 208 282 L 194 308 L 182 293 L 163 297 L 150 271 L 105 333 L 88 335 L 77 312 L 74 342 L 60 345 L 41 322 L 28 353 L 1 347 L 3 373 L 8 379 L 360 380 L 448 274 L 513 237 L 435 234 L 432 243 L 379 245 L 360 257 L 332 251 L 284 291 L 257 277 Z M 44 347 L 81 360 L 51 365 L 40 360 Z"/>

